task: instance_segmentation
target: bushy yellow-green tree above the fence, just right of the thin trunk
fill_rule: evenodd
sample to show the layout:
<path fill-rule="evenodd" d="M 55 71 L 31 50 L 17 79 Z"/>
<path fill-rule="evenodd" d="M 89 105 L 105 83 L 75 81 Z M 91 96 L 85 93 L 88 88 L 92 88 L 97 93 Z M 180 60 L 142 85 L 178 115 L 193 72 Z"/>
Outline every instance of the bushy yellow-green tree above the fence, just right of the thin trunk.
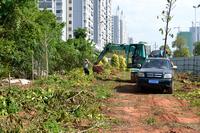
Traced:
<path fill-rule="evenodd" d="M 184 38 L 178 36 L 176 40 L 173 42 L 172 45 L 173 48 L 176 48 L 176 50 L 173 53 L 174 57 L 189 57 L 190 52 L 189 49 L 186 47 L 186 41 Z"/>

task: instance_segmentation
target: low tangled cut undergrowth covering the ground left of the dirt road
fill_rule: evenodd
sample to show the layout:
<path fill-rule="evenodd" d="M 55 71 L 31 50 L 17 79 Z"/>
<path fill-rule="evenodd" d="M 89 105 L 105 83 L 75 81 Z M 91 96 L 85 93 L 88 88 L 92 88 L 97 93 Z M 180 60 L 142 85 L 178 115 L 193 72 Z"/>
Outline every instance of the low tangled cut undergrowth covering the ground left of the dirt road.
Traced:
<path fill-rule="evenodd" d="M 78 132 L 105 121 L 101 100 L 111 89 L 95 84 L 94 76 L 73 70 L 64 76 L 37 80 L 31 88 L 0 89 L 0 128 L 18 132 Z"/>

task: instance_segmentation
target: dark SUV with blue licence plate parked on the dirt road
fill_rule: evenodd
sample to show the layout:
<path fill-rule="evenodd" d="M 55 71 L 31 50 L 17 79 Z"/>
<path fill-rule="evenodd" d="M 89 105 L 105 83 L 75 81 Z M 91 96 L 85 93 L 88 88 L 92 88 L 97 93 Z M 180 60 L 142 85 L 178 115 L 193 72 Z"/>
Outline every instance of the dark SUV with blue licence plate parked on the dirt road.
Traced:
<path fill-rule="evenodd" d="M 148 58 L 138 72 L 137 86 L 143 88 L 159 88 L 173 93 L 173 66 L 167 58 Z"/>

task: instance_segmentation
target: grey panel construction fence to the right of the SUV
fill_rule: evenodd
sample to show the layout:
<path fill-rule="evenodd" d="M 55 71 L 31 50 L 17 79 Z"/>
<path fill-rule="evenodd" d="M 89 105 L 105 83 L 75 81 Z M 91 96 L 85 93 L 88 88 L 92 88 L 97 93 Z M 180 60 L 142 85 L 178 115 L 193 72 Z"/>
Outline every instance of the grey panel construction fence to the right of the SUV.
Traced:
<path fill-rule="evenodd" d="M 200 56 L 179 57 L 171 59 L 179 72 L 192 72 L 200 75 Z"/>

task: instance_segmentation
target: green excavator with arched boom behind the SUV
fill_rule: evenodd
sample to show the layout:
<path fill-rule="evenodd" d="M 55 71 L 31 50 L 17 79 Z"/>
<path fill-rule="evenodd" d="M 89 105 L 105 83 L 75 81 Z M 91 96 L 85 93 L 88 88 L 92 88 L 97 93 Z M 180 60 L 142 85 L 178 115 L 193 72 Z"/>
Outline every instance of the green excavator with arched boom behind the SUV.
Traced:
<path fill-rule="evenodd" d="M 131 70 L 131 81 L 136 82 L 137 72 L 139 71 L 141 65 L 144 60 L 147 58 L 145 44 L 137 43 L 137 44 L 107 44 L 103 51 L 98 56 L 93 71 L 97 72 L 98 63 L 103 59 L 103 57 L 112 51 L 124 51 L 126 56 L 126 64 L 127 67 Z"/>

